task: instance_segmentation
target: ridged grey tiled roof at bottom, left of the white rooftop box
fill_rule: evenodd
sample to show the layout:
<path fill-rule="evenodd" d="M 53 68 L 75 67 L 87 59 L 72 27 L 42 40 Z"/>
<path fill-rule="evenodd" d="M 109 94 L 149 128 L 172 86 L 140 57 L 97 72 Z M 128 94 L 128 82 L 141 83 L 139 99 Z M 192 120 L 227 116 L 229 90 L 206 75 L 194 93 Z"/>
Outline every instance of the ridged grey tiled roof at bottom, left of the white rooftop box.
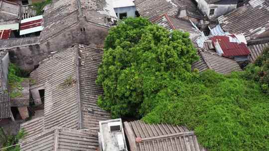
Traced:
<path fill-rule="evenodd" d="M 97 132 L 55 128 L 20 142 L 20 151 L 96 151 Z"/>

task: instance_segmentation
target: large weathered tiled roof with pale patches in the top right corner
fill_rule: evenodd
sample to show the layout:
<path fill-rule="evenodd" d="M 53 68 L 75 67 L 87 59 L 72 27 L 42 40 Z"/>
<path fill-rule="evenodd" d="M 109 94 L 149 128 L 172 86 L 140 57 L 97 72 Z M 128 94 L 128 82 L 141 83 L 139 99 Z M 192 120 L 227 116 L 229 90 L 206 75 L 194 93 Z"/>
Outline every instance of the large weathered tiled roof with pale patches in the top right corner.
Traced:
<path fill-rule="evenodd" d="M 269 35 L 269 0 L 250 0 L 245 6 L 220 16 L 224 31 L 244 34 L 247 40 Z"/>

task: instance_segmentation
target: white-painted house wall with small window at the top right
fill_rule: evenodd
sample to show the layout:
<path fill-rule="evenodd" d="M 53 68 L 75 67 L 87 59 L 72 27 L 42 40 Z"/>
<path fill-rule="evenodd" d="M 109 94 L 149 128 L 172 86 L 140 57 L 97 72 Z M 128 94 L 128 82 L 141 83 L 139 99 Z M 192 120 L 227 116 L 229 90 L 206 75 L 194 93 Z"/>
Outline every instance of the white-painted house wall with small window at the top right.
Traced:
<path fill-rule="evenodd" d="M 196 0 L 198 8 L 203 12 L 209 19 L 217 18 L 231 10 L 235 9 L 237 4 L 208 4 L 205 0 Z M 210 9 L 214 8 L 214 15 L 209 15 Z"/>

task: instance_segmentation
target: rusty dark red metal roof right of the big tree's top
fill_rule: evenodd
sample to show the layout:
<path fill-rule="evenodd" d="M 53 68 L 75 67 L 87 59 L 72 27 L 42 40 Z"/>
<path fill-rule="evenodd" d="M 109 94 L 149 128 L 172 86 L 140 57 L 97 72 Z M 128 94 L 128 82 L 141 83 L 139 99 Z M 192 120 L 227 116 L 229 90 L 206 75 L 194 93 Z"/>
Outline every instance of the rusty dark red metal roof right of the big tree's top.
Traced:
<path fill-rule="evenodd" d="M 235 35 L 230 35 L 236 39 Z M 210 38 L 213 44 L 218 41 L 223 51 L 224 57 L 232 56 L 246 56 L 250 54 L 250 51 L 245 43 L 230 42 L 229 36 L 214 36 Z"/>

